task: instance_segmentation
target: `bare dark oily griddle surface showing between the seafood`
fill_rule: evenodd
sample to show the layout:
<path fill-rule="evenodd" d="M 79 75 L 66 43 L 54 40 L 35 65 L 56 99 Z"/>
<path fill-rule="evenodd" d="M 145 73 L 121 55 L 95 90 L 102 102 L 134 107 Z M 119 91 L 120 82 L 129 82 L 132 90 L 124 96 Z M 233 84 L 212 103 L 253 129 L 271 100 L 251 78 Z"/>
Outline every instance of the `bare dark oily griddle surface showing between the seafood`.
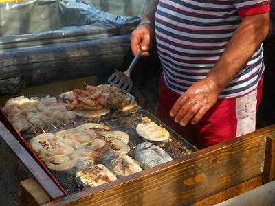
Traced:
<path fill-rule="evenodd" d="M 124 131 L 129 134 L 129 146 L 131 147 L 131 151 L 129 152 L 129 156 L 133 158 L 133 150 L 135 149 L 135 146 L 137 144 L 140 144 L 143 142 L 142 137 L 137 135 L 135 128 L 137 124 L 142 123 L 142 117 L 148 117 L 153 122 L 155 122 L 158 125 L 163 126 L 166 128 L 166 130 L 169 131 L 171 136 L 171 141 L 166 144 L 156 144 L 155 145 L 163 148 L 168 154 L 173 158 L 177 159 L 178 157 L 183 157 L 184 155 L 188 155 L 191 152 L 195 152 L 197 149 L 189 144 L 185 139 L 183 139 L 181 136 L 177 135 L 173 130 L 170 130 L 166 125 L 164 125 L 162 122 L 159 121 L 156 117 L 154 117 L 151 113 L 148 111 L 135 111 L 133 113 L 111 113 L 105 117 L 102 117 L 102 119 L 93 121 L 94 123 L 98 124 L 104 124 L 106 126 L 111 127 L 111 130 L 120 130 Z M 89 121 L 86 121 L 89 122 Z M 64 130 L 67 128 L 76 127 L 80 124 L 85 123 L 85 121 L 82 118 L 76 119 L 76 124 L 68 124 L 67 126 L 64 126 L 62 128 L 58 128 L 58 130 Z M 48 132 L 55 133 L 58 130 L 50 130 Z M 28 133 L 23 133 L 23 137 L 25 139 L 30 140 L 33 135 L 29 135 Z M 75 181 L 75 173 L 76 169 L 67 170 L 65 172 L 56 172 L 54 170 L 50 170 L 54 177 L 57 179 L 59 183 L 65 188 L 65 190 L 68 192 L 68 194 L 75 194 L 76 192 L 79 192 L 81 189 L 78 187 Z"/>

